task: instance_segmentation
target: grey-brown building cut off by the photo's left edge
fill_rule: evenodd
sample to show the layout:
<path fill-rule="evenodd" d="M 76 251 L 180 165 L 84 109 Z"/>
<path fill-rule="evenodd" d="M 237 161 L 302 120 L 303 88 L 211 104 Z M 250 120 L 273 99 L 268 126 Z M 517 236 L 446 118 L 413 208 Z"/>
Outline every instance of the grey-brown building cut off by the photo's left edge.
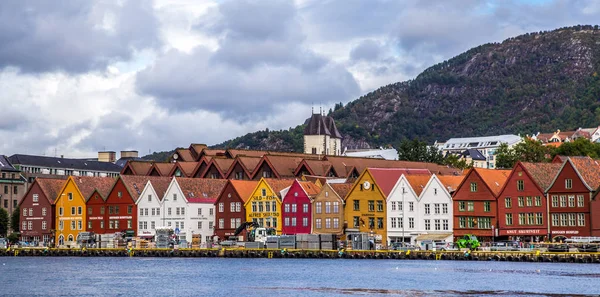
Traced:
<path fill-rule="evenodd" d="M 9 158 L 0 155 L 0 207 L 4 208 L 9 215 L 12 215 L 25 195 L 26 181 L 21 171 L 12 165 Z"/>

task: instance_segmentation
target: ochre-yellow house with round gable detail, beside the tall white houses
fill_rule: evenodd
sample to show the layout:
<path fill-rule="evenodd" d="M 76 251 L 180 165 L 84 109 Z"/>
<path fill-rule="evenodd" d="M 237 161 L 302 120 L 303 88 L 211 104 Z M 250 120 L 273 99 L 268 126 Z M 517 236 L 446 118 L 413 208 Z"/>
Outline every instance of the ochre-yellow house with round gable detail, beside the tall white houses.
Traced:
<path fill-rule="evenodd" d="M 345 234 L 368 233 L 376 244 L 387 242 L 386 199 L 405 170 L 367 168 L 346 195 Z"/>

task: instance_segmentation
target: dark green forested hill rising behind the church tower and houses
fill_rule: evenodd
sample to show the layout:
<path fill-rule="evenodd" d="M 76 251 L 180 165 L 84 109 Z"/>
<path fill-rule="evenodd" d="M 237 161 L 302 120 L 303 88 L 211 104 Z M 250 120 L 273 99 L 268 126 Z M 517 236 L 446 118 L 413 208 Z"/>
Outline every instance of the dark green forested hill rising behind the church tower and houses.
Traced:
<path fill-rule="evenodd" d="M 332 112 L 343 146 L 600 125 L 600 30 L 575 26 L 473 48 Z M 302 127 L 217 145 L 302 150 Z"/>

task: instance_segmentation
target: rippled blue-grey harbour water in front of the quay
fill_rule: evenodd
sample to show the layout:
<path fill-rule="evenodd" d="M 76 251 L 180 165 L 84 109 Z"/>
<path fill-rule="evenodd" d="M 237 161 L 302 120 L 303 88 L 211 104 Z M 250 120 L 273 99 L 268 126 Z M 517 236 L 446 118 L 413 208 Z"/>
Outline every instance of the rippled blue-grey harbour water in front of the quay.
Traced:
<path fill-rule="evenodd" d="M 0 258 L 2 296 L 598 296 L 600 265 L 348 259 Z"/>

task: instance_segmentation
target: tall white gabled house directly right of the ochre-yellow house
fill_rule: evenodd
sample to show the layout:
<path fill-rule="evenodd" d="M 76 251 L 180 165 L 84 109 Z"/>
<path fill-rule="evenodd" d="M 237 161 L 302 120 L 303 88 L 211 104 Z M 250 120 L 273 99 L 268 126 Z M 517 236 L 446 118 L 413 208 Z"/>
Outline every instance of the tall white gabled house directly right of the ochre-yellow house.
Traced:
<path fill-rule="evenodd" d="M 419 195 L 402 174 L 387 197 L 387 238 L 392 242 L 414 243 L 419 235 Z"/>

